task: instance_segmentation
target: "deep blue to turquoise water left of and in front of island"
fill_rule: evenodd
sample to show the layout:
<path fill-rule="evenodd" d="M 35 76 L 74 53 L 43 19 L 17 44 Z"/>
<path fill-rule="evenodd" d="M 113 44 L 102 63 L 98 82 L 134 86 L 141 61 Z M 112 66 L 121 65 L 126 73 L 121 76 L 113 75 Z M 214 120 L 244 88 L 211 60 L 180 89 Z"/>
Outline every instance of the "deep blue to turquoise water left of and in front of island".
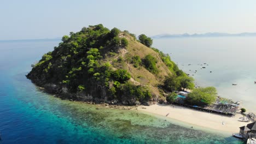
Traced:
<path fill-rule="evenodd" d="M 106 109 L 41 92 L 25 74 L 58 43 L 0 42 L 0 143 L 242 143 L 136 110 Z"/>

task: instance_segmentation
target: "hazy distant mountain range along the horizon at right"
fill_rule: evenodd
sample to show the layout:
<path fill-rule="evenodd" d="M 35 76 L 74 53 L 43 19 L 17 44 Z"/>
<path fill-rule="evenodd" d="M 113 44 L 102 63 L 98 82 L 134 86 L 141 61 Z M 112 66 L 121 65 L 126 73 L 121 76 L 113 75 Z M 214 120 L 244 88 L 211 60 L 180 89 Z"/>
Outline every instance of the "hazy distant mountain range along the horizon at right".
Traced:
<path fill-rule="evenodd" d="M 161 39 L 161 38 L 194 38 L 194 37 L 256 37 L 256 33 L 203 33 L 203 34 L 159 34 L 152 36 L 153 39 Z"/>

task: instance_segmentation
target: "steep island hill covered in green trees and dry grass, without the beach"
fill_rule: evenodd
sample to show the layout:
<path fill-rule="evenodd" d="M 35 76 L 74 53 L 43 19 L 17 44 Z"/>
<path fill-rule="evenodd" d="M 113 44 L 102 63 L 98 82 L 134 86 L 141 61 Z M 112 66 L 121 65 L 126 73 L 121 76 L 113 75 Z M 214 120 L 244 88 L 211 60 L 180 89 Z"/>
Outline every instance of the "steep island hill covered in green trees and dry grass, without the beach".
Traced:
<path fill-rule="evenodd" d="M 101 24 L 84 27 L 63 36 L 27 77 L 63 99 L 125 105 L 150 105 L 173 91 L 193 88 L 193 79 L 152 43 L 144 34 L 137 39 Z"/>

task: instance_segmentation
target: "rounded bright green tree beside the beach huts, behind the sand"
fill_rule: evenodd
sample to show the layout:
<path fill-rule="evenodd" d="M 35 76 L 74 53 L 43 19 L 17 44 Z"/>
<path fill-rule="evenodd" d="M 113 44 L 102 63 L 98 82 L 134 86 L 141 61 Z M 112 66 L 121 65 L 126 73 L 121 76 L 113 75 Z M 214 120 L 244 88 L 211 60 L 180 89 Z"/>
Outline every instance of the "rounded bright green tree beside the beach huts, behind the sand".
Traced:
<path fill-rule="evenodd" d="M 189 105 L 210 105 L 217 98 L 217 90 L 214 87 L 195 88 L 185 99 Z"/>

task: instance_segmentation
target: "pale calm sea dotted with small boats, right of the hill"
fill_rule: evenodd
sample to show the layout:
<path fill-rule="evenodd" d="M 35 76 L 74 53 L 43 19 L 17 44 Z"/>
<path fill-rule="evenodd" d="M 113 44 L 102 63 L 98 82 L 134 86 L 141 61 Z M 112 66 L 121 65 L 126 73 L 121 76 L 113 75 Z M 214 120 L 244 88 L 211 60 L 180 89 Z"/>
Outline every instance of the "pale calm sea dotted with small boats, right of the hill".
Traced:
<path fill-rule="evenodd" d="M 155 39 L 153 43 L 194 77 L 197 87 L 214 86 L 220 96 L 242 101 L 248 112 L 256 113 L 256 37 Z"/>

